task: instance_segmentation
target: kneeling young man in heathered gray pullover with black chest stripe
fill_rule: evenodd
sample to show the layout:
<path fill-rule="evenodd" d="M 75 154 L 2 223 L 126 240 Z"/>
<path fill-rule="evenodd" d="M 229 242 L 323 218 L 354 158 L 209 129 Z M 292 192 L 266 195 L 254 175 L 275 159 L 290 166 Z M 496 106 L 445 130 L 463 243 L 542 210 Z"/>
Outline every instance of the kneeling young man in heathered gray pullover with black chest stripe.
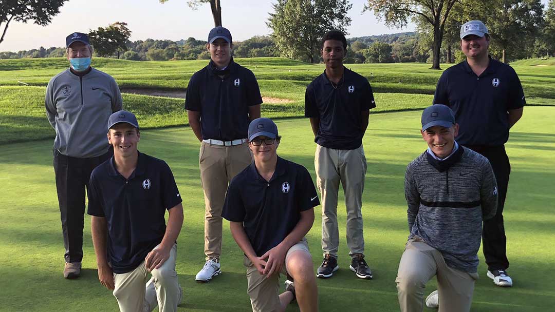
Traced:
<path fill-rule="evenodd" d="M 495 216 L 497 185 L 486 157 L 455 142 L 458 124 L 445 105 L 422 112 L 428 149 L 407 166 L 410 235 L 397 273 L 401 311 L 422 311 L 426 283 L 437 277 L 440 311 L 470 311 L 478 279 L 482 221 Z"/>

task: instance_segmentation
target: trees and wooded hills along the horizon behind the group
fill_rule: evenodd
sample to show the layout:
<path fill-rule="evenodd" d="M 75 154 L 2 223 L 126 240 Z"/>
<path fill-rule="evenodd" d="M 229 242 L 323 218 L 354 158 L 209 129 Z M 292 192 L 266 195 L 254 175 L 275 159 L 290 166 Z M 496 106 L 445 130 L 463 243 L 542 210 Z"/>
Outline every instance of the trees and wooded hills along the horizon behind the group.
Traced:
<path fill-rule="evenodd" d="M 165 2 L 166 0 L 159 0 Z M 48 24 L 64 1 L 51 0 L 50 11 L 29 4 L 26 11 L 3 7 L 0 18 L 5 27 L 12 19 Z M 209 3 L 214 24 L 221 25 L 218 0 L 188 0 L 191 8 Z M 270 36 L 255 36 L 234 43 L 235 57 L 286 57 L 304 62 L 320 62 L 320 38 L 331 29 L 346 33 L 351 19 L 349 0 L 278 0 L 266 24 Z M 19 11 L 18 11 L 19 10 Z M 540 0 L 368 0 L 365 11 L 372 11 L 386 25 L 417 25 L 415 33 L 351 38 L 346 63 L 427 62 L 439 68 L 441 62 L 463 59 L 460 50 L 460 25 L 480 19 L 490 29 L 490 54 L 503 62 L 555 54 L 555 0 L 544 10 Z M 42 12 L 42 13 L 41 13 Z M 46 13 L 44 13 L 46 12 Z M 12 14 L 12 15 L 10 15 Z M 19 14 L 19 15 L 18 15 Z M 42 15 L 41 15 L 42 14 Z M 18 19 L 19 18 L 19 19 Z M 6 22 L 7 21 L 7 22 Z M 95 55 L 129 60 L 208 59 L 204 40 L 137 40 L 130 42 L 131 30 L 124 22 L 90 30 Z M 1 42 L 1 39 L 0 39 Z M 29 51 L 1 52 L 5 58 L 62 57 L 64 49 L 41 47 Z"/>

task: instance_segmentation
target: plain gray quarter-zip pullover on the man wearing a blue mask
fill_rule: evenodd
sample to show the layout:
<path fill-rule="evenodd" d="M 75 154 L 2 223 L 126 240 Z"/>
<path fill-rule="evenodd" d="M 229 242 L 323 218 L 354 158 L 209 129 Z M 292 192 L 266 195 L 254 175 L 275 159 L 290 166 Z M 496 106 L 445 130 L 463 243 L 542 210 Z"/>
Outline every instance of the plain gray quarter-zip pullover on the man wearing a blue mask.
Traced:
<path fill-rule="evenodd" d="M 83 76 L 64 70 L 48 83 L 44 104 L 60 154 L 88 158 L 108 151 L 108 117 L 122 109 L 112 76 L 94 68 Z"/>

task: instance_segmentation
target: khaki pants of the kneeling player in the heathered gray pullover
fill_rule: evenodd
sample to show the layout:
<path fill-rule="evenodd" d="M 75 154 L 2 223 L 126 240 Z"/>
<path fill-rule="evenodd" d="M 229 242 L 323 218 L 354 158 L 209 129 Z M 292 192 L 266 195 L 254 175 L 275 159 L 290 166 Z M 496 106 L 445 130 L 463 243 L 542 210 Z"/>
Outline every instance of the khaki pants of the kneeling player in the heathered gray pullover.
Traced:
<path fill-rule="evenodd" d="M 399 263 L 397 297 L 402 312 L 421 312 L 424 289 L 437 277 L 440 312 L 468 312 L 478 273 L 467 273 L 447 266 L 441 252 L 422 241 L 410 239 Z"/>

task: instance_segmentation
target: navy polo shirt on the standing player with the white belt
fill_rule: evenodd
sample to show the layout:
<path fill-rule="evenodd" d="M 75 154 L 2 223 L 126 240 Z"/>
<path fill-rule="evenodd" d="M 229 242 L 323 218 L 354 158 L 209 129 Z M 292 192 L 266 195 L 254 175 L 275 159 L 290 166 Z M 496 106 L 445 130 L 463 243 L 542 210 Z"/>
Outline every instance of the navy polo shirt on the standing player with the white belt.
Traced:
<path fill-rule="evenodd" d="M 262 103 L 252 71 L 231 62 L 223 78 L 210 65 L 189 80 L 185 109 L 200 112 L 203 139 L 245 139 L 249 130 L 249 106 Z"/>

